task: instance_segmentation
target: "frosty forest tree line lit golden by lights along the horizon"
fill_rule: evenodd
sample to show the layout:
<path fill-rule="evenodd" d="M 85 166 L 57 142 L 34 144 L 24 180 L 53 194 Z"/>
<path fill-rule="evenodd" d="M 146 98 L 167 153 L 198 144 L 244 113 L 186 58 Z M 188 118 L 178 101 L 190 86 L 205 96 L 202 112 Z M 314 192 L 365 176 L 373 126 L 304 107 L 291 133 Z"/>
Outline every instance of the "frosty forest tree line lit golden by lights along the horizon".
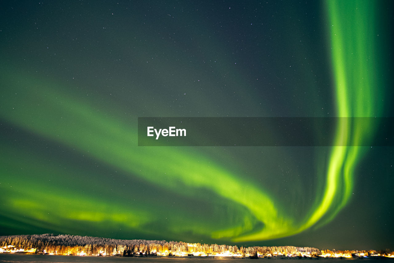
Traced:
<path fill-rule="evenodd" d="M 11 235 L 0 237 L 0 247 L 14 246 L 14 249 L 32 250 L 36 253 L 53 254 L 119 254 L 132 255 L 138 253 L 154 254 L 155 252 L 219 254 L 227 251 L 233 254 L 298 254 L 300 252 L 319 253 L 318 248 L 296 246 L 228 246 L 218 244 L 186 243 L 182 241 L 143 240 L 143 239 L 108 239 L 103 237 L 82 237 L 74 235 Z"/>

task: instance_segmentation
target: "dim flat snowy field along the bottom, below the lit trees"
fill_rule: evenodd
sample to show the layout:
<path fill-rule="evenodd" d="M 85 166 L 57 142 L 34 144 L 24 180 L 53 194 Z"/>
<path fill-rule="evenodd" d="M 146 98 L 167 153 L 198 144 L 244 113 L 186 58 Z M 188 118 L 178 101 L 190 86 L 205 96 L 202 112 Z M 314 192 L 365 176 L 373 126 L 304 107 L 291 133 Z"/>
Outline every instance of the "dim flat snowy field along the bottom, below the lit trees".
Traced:
<path fill-rule="evenodd" d="M 333 261 L 355 261 L 358 262 L 394 262 L 390 259 L 282 259 L 281 258 L 259 258 L 259 259 L 242 259 L 242 258 L 223 258 L 223 257 L 81 257 L 81 256 L 62 256 L 62 255 L 22 255 L 22 254 L 0 254 L 0 262 L 9 263 L 234 263 L 234 262 L 264 262 L 264 263 L 307 263 L 316 261 L 318 263 L 333 263 Z M 279 261 L 279 262 L 278 262 Z M 317 262 L 316 262 L 317 263 Z M 338 262 L 339 263 L 339 262 Z"/>

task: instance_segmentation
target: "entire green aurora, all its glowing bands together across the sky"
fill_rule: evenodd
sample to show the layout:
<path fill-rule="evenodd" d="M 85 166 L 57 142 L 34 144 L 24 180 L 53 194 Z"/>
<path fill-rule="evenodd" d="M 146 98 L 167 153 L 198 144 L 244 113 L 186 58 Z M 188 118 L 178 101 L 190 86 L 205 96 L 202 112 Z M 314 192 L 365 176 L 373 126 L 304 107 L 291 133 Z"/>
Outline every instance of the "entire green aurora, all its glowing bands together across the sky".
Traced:
<path fill-rule="evenodd" d="M 337 116 L 379 116 L 382 106 L 373 103 L 382 96 L 376 93 L 375 88 L 379 85 L 375 78 L 378 70 L 375 65 L 378 62 L 369 53 L 376 47 L 373 41 L 367 41 L 375 36 L 372 14 L 376 2 L 325 3 L 330 20 L 328 30 Z M 342 19 L 343 17 L 346 19 Z M 362 26 L 366 24 L 370 26 Z M 40 83 L 29 75 L 15 75 L 7 70 L 3 70 L 2 75 L 8 88 L 1 97 L 0 114 L 9 123 L 37 136 L 50 138 L 140 180 L 164 187 L 169 192 L 191 197 L 198 195 L 201 190 L 208 191 L 212 194 L 211 197 L 217 198 L 218 203 L 231 204 L 233 209 L 238 210 L 239 213 L 233 214 L 242 214 L 241 218 L 234 218 L 226 224 L 206 225 L 183 212 L 183 220 L 173 217 L 170 218 L 171 224 L 162 225 L 175 235 L 191 231 L 212 239 L 245 242 L 286 237 L 314 225 L 326 224 L 349 201 L 354 184 L 353 171 L 364 152 L 364 147 L 332 147 L 327 167 L 324 168 L 326 175 L 324 188 L 320 191 L 322 195 L 317 194 L 316 203 L 305 218 L 296 220 L 286 213 L 286 209 L 268 191 L 255 186 L 252 180 L 243 179 L 241 183 L 239 175 L 213 163 L 194 148 L 137 147 L 135 123 L 126 125 L 107 116 L 103 113 L 104 110 L 91 109 L 85 101 L 78 101 L 62 94 L 58 91 L 60 89 L 53 88 L 56 83 Z M 30 102 L 20 105 L 19 101 Z M 79 126 L 80 123 L 83 126 Z M 369 140 L 373 132 L 374 127 L 368 124 L 360 127 L 359 124 L 339 121 L 335 140 L 353 141 L 353 145 L 357 145 L 357 142 Z M 7 204 L 0 209 L 3 216 L 65 233 L 72 232 L 75 227 L 83 229 L 89 224 L 102 227 L 112 224 L 122 229 L 138 229 L 152 220 L 159 220 L 154 212 L 134 209 L 131 204 L 104 199 L 99 201 L 98 193 L 85 193 L 83 185 L 75 185 L 66 179 L 59 179 L 61 182 L 53 190 L 43 194 L 41 191 L 46 191 L 45 188 L 34 178 L 45 173 L 42 168 L 44 161 L 33 153 L 14 152 L 12 146 L 2 148 L 1 152 L 3 160 L 7 160 L 3 169 L 7 174 L 3 176 L 3 184 L 0 186 L 4 193 L 3 201 Z M 21 164 L 19 160 L 25 161 Z M 68 178 L 70 174 L 84 177 L 78 170 L 66 172 L 56 165 L 51 169 L 54 174 L 61 175 L 59 178 Z M 165 180 L 160 178 L 164 172 Z M 16 177 L 23 178 L 28 183 L 20 184 L 15 189 L 6 187 L 6 183 L 12 184 Z M 80 189 L 81 192 L 70 193 L 65 190 L 69 187 Z M 97 187 L 106 192 L 105 186 Z M 37 191 L 32 192 L 30 189 Z M 18 194 L 20 192 L 26 194 L 22 196 Z M 119 196 L 115 200 L 121 198 Z M 84 200 L 89 205 L 74 200 Z M 43 203 L 48 205 L 43 206 Z M 106 207 L 105 211 L 102 207 Z M 160 205 L 156 208 L 158 207 Z M 74 222 L 74 228 L 65 222 Z M 2 224 L 14 226 L 9 222 Z M 152 233 L 154 234 L 154 230 Z"/>

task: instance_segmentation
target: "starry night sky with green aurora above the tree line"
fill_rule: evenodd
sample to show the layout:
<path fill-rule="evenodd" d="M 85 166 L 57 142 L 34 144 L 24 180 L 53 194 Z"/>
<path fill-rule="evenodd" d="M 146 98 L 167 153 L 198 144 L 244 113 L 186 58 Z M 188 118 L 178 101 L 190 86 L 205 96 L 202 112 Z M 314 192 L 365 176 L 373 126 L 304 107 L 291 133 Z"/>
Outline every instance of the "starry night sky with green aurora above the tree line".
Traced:
<path fill-rule="evenodd" d="M 0 235 L 394 249 L 393 147 L 357 146 L 387 123 L 338 121 L 340 147 L 137 138 L 138 117 L 393 117 L 392 10 L 2 3 Z"/>

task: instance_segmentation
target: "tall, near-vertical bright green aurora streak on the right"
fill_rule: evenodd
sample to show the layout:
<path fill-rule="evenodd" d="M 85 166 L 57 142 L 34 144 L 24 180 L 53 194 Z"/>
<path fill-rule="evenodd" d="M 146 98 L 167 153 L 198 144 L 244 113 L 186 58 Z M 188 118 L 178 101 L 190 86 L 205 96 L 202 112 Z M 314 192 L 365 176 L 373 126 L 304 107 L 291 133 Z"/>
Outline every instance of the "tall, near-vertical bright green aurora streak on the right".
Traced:
<path fill-rule="evenodd" d="M 376 47 L 368 44 L 376 37 L 375 2 L 330 0 L 325 3 L 330 21 L 338 116 L 379 116 L 382 106 L 374 103 L 379 99 L 375 77 L 379 69 L 372 62 Z M 322 201 L 302 228 L 316 224 L 323 216 L 326 216 L 324 223 L 331 221 L 346 205 L 353 190 L 355 165 L 364 151 L 357 145 L 370 140 L 374 128 L 367 119 L 357 123 L 348 118 L 339 119 L 335 144 L 355 146 L 333 147 Z"/>

